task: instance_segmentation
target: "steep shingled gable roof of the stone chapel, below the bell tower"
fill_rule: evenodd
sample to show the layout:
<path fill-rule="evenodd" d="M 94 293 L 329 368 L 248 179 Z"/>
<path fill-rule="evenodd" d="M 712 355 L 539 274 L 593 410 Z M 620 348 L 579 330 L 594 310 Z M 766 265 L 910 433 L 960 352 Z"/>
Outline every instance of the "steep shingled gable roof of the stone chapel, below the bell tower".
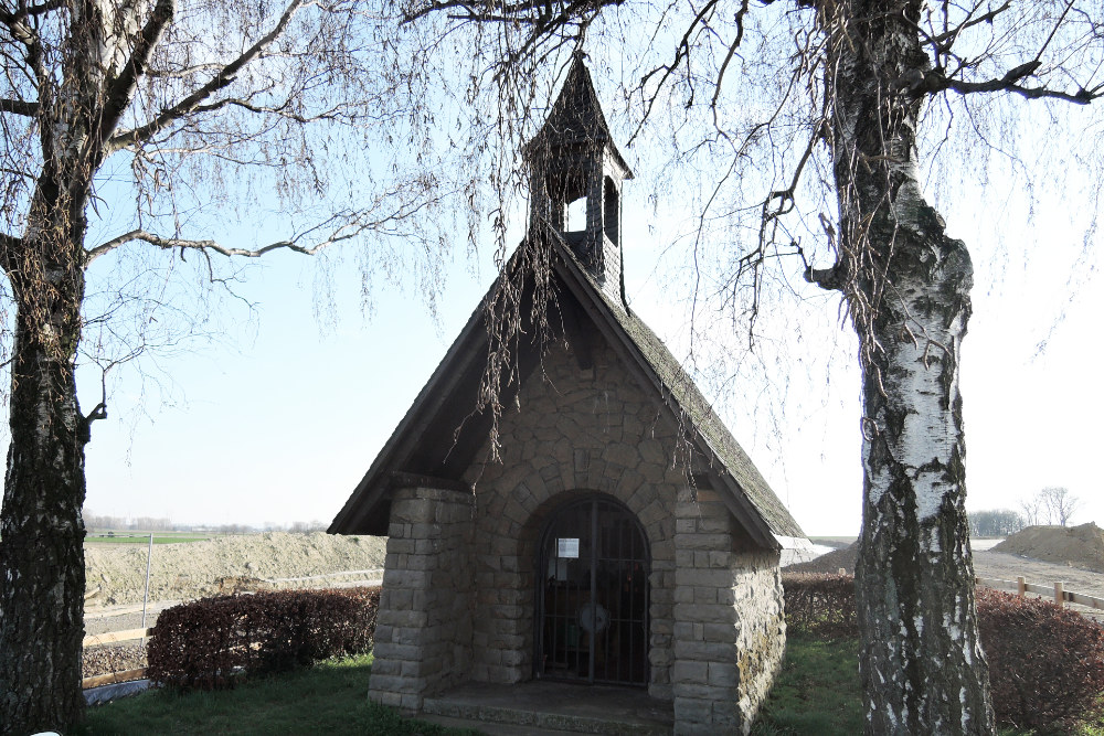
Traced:
<path fill-rule="evenodd" d="M 705 477 L 693 482 L 720 492 L 730 511 L 762 545 L 779 546 L 775 537 L 805 536 L 747 454 L 713 412 L 694 382 L 675 360 L 664 342 L 635 313 L 612 299 L 587 274 L 561 235 L 541 228 L 518 247 L 507 266 L 517 268 L 519 254 L 529 247 L 550 247 L 558 299 L 572 298 L 591 318 L 597 331 L 625 361 L 630 372 L 661 397 L 671 417 L 689 440 L 709 459 Z M 506 276 L 500 276 L 505 278 Z M 491 286 L 488 299 L 495 294 Z M 391 439 L 376 457 L 329 527 L 338 534 L 385 534 L 391 493 L 399 484 L 424 482 L 436 487 L 466 488 L 464 471 L 476 461 L 487 439 L 489 417 L 470 416 L 475 391 L 487 355 L 485 299 L 449 348 Z M 539 351 L 534 344 L 532 352 Z M 528 358 L 521 375 L 532 373 L 539 362 Z M 519 360 L 526 361 L 524 355 Z M 467 417 L 467 420 L 465 419 Z M 463 425 L 463 426 L 461 426 Z M 457 431 L 457 428 L 459 430 Z M 468 489 L 470 490 L 470 489 Z"/>

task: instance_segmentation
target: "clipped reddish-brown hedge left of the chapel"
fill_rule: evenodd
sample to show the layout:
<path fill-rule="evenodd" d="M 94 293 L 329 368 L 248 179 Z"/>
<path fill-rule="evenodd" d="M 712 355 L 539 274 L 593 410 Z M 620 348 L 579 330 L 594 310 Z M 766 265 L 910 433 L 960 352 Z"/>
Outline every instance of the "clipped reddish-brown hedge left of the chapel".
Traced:
<path fill-rule="evenodd" d="M 212 690 L 236 672 L 280 672 L 372 648 L 380 588 L 217 596 L 161 612 L 150 636 L 153 682 Z"/>

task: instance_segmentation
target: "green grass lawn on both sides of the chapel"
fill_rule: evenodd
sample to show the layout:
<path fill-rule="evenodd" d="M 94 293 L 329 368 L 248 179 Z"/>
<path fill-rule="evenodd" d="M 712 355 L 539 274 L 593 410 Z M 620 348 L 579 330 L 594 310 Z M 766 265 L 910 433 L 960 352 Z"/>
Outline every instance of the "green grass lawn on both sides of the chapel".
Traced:
<path fill-rule="evenodd" d="M 792 633 L 786 661 L 753 736 L 854 736 L 863 732 L 858 671 L 859 642 L 826 642 Z M 329 661 L 312 669 L 246 681 L 235 690 L 177 694 L 156 690 L 89 707 L 81 736 L 173 734 L 373 734 L 374 736 L 474 736 L 402 718 L 368 701 L 371 655 Z M 1001 728 L 1001 736 L 1034 732 Z M 1104 721 L 1078 736 L 1104 736 Z M 1041 736 L 1041 735 L 1040 735 Z"/>

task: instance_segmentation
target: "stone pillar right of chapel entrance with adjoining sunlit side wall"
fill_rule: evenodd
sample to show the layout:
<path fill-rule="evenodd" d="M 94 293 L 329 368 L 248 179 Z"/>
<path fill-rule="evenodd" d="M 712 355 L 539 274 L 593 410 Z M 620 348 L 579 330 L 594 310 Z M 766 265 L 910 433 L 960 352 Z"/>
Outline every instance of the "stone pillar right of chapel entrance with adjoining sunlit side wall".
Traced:
<path fill-rule="evenodd" d="M 677 513 L 675 730 L 746 734 L 785 651 L 779 555 L 713 491 L 683 489 Z"/>

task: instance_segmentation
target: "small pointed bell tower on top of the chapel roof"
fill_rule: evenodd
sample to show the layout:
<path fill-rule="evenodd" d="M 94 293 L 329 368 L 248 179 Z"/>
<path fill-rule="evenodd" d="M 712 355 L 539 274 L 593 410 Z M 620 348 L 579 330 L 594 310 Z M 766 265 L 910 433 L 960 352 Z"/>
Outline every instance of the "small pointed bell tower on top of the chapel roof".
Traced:
<path fill-rule="evenodd" d="M 530 232 L 546 222 L 602 290 L 624 302 L 620 189 L 633 172 L 609 136 L 582 54 L 576 53 L 552 113 L 524 152 Z"/>

